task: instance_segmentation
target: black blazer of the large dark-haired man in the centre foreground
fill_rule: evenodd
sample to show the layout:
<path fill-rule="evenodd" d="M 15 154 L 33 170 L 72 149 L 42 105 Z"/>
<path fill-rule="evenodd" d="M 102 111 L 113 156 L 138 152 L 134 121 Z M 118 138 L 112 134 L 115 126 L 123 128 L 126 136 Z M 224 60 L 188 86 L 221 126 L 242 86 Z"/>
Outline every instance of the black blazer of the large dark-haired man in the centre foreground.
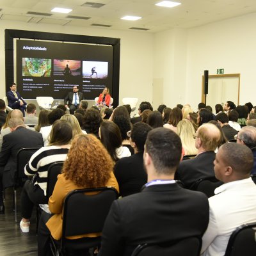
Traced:
<path fill-rule="evenodd" d="M 99 256 L 130 256 L 141 243 L 202 236 L 209 222 L 207 197 L 178 184 L 149 186 L 115 200 L 105 221 Z"/>

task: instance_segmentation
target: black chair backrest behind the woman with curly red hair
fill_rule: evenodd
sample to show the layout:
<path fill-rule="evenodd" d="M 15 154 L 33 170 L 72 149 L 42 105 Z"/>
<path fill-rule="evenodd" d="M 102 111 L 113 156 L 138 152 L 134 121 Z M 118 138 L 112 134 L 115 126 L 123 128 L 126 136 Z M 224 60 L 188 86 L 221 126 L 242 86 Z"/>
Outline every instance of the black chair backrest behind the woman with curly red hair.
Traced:
<path fill-rule="evenodd" d="M 116 198 L 116 189 L 110 187 L 77 189 L 68 193 L 64 201 L 62 240 L 67 236 L 102 232 L 110 206 Z"/>

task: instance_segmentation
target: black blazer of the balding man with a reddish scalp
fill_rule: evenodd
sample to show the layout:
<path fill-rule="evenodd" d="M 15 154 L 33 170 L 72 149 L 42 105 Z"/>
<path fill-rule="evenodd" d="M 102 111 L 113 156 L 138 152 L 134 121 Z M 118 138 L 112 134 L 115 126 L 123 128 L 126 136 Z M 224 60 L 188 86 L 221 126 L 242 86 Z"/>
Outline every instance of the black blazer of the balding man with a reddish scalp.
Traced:
<path fill-rule="evenodd" d="M 175 173 L 175 179 L 181 180 L 185 188 L 190 188 L 196 180 L 214 178 L 214 159 L 215 153 L 207 151 L 193 159 L 181 161 Z"/>

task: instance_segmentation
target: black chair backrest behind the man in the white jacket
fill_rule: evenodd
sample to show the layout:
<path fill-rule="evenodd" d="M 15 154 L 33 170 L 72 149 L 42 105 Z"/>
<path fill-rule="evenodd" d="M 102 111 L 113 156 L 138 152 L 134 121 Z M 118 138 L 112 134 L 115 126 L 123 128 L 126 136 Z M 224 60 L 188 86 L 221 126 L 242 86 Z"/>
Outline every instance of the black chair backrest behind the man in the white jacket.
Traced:
<path fill-rule="evenodd" d="M 256 222 L 236 228 L 228 240 L 225 256 L 256 255 Z"/>

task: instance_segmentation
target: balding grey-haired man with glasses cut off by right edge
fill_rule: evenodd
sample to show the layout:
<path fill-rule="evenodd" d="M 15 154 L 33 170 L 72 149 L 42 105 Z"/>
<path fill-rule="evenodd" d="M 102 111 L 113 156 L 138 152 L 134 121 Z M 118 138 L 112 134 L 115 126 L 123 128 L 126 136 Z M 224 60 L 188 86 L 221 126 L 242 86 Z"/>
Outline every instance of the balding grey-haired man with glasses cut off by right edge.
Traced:
<path fill-rule="evenodd" d="M 256 174 L 256 127 L 244 126 L 237 134 L 236 143 L 246 145 L 253 153 L 253 168 L 251 174 Z"/>

